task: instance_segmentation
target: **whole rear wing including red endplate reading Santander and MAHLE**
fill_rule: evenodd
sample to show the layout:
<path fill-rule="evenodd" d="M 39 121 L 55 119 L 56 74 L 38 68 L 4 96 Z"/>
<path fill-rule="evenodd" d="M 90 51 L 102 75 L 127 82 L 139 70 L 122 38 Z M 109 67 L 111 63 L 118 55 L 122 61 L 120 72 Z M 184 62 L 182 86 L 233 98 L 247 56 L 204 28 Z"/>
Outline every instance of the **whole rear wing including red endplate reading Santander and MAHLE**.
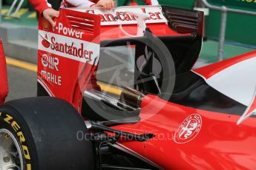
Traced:
<path fill-rule="evenodd" d="M 131 8 L 151 15 L 147 27 L 152 34 L 163 41 L 171 52 L 176 72 L 190 70 L 197 61 L 202 46 L 203 13 L 171 7 L 163 7 L 164 12 L 162 12 L 162 7 Z M 127 9 L 130 7 L 120 7 L 116 13 L 119 13 L 119 17 L 125 17 L 128 14 L 121 11 Z M 155 12 L 152 13 L 153 11 Z M 100 47 L 118 47 L 127 45 L 127 43 L 137 44 L 135 54 L 135 60 L 137 60 L 141 54 L 145 53 L 145 43 L 148 39 L 146 36 L 130 37 L 120 30 L 119 25 L 123 24 L 123 30 L 136 35 L 137 22 L 134 16 L 127 16 L 131 21 L 123 19 L 124 21 L 121 20 L 122 22 L 119 23 L 120 21 L 113 16 L 114 12 L 103 13 L 99 9 L 86 12 L 85 9 L 76 8 L 61 10 L 60 18 L 56 20 L 55 30 L 52 30 L 44 19 L 39 19 L 39 95 L 46 91 L 47 95 L 63 98 L 73 103 L 76 108 L 81 103 L 73 101 L 78 93 L 74 88 L 78 84 L 80 89 L 83 88 L 82 86 L 87 89 L 91 88 L 88 84 L 90 78 L 86 76 L 90 77 L 90 72 L 94 72 L 98 65 L 101 57 L 99 45 Z M 100 15 L 91 14 L 97 12 Z M 86 21 L 83 21 L 84 18 Z M 85 47 L 90 49 L 85 49 Z M 88 52 L 87 55 L 86 52 Z M 47 58 L 50 60 L 49 64 Z M 91 61 L 87 62 L 88 60 Z M 67 73 L 68 69 L 70 71 Z M 87 71 L 84 72 L 82 69 Z M 84 75 L 80 75 L 81 71 Z M 137 74 L 139 73 L 135 67 L 134 75 Z M 83 80 L 80 81 L 87 81 L 79 83 L 78 78 L 81 76 Z"/>

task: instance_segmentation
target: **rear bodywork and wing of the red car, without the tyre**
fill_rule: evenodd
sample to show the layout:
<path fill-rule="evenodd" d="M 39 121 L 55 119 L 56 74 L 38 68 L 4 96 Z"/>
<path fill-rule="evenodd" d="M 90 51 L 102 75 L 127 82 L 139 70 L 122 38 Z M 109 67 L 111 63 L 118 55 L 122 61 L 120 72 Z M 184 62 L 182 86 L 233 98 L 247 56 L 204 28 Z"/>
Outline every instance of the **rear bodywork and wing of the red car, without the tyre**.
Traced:
<path fill-rule="evenodd" d="M 148 135 L 143 141 L 121 138 L 114 143 L 101 143 L 97 148 L 100 150 L 97 155 L 101 158 L 98 162 L 100 167 L 255 168 L 256 152 L 252 145 L 256 142 L 256 120 L 248 118 L 240 126 L 237 126 L 237 120 L 246 112 L 255 95 L 255 68 L 252 65 L 255 64 L 256 52 L 191 71 L 202 46 L 203 13 L 171 7 L 131 7 L 151 15 L 151 21 L 147 24 L 148 33 L 142 37 L 132 37 L 124 34 L 119 27 L 122 24 L 122 29 L 129 34 L 137 33 L 135 18 L 125 13 L 128 8 L 121 7 L 113 13 L 103 13 L 99 9 L 61 10 L 55 30 L 40 18 L 38 95 L 65 99 L 85 119 L 93 120 L 99 126 L 104 124 L 120 132 Z M 97 69 L 99 57 L 104 57 L 99 56 L 101 47 L 119 47 L 127 45 L 128 42 L 131 46 L 135 45 L 137 61 L 140 55 L 145 55 L 145 47 L 149 46 L 148 37 L 151 36 L 165 44 L 170 53 L 169 57 L 174 61 L 176 78 L 173 92 L 168 98 L 157 96 L 155 81 L 142 82 L 141 86 L 136 84 L 138 86 L 134 88 L 138 91 L 123 92 L 122 95 L 128 98 L 121 98 L 116 104 L 110 102 L 111 97 L 93 90 L 96 87 L 91 78 Z M 151 51 L 154 52 L 152 47 Z M 249 65 L 243 65 L 247 61 Z M 237 75 L 236 81 L 231 73 L 225 75 L 233 66 L 239 66 L 235 67 L 237 72 L 242 69 L 246 75 Z M 134 81 L 140 81 L 144 75 L 140 75 L 142 72 L 137 66 L 134 68 L 134 77 L 138 78 Z M 224 75 L 214 80 L 218 73 Z M 241 77 L 246 82 L 241 83 Z M 165 78 L 160 76 L 158 79 Z M 161 81 L 158 79 L 157 81 Z M 217 86 L 209 83 L 211 80 Z M 234 88 L 231 84 L 223 84 L 226 80 Z M 165 81 L 161 81 L 160 85 L 163 82 Z M 240 90 L 245 90 L 249 95 L 246 93 L 247 95 L 233 96 L 234 91 L 229 89 L 235 89 L 238 83 L 246 85 L 240 86 Z M 219 89 L 219 85 L 226 89 Z M 134 99 L 134 96 L 137 98 Z M 240 101 L 240 96 L 245 96 L 244 102 Z M 90 107 L 88 102 L 91 101 L 103 101 L 103 112 L 111 115 L 115 108 L 117 115 L 125 115 L 124 120 L 119 121 L 119 125 L 105 120 L 95 111 L 96 108 Z M 101 104 L 95 106 L 100 108 Z M 131 119 L 127 120 L 125 117 Z"/>

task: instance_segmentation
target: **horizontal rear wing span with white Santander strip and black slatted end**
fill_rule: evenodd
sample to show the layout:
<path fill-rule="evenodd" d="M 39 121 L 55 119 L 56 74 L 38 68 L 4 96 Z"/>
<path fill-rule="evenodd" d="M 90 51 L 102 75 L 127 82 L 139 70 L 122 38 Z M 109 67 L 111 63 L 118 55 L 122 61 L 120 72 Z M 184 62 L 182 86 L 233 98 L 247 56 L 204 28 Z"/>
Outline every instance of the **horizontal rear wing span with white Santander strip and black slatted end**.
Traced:
<path fill-rule="evenodd" d="M 150 18 L 145 23 L 156 36 L 193 34 L 202 38 L 203 35 L 203 12 L 199 11 L 159 5 L 116 7 L 114 10 L 102 10 L 102 8 L 69 8 L 69 10 L 99 15 L 101 41 L 131 38 L 131 35 L 137 35 L 136 17 L 129 14 L 129 11 L 148 14 Z M 128 32 L 129 35 L 124 32 Z"/>

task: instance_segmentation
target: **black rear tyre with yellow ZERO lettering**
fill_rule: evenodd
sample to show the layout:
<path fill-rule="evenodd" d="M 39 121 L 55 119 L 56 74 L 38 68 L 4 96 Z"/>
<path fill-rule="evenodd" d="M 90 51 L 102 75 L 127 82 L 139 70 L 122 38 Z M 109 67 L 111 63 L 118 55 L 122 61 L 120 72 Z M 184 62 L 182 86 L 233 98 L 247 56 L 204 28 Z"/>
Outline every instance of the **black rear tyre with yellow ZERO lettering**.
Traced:
<path fill-rule="evenodd" d="M 93 169 L 85 123 L 69 103 L 50 97 L 0 106 L 0 169 Z"/>

